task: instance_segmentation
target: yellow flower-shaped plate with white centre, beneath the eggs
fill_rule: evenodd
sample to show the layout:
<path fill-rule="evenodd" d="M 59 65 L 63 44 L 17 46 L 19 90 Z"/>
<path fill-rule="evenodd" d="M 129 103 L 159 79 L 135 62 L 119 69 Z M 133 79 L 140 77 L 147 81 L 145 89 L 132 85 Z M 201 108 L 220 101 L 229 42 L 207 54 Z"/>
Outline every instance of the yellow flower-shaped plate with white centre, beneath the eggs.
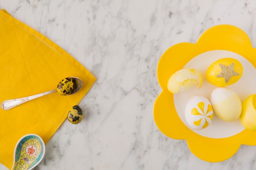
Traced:
<path fill-rule="evenodd" d="M 219 162 L 232 157 L 240 145 L 256 145 L 256 131 L 246 130 L 240 119 L 224 122 L 214 116 L 205 130 L 191 129 L 184 119 L 184 106 L 193 95 L 210 98 L 216 88 L 207 82 L 205 71 L 214 61 L 233 57 L 243 64 L 244 73 L 234 85 L 227 86 L 245 100 L 256 94 L 256 49 L 252 47 L 248 35 L 232 25 L 218 25 L 205 31 L 195 44 L 179 43 L 165 51 L 158 62 L 157 79 L 162 88 L 154 105 L 154 119 L 159 130 L 173 139 L 184 139 L 189 149 L 198 158 Z M 168 79 L 182 68 L 196 68 L 203 74 L 201 89 L 172 94 L 167 89 Z"/>

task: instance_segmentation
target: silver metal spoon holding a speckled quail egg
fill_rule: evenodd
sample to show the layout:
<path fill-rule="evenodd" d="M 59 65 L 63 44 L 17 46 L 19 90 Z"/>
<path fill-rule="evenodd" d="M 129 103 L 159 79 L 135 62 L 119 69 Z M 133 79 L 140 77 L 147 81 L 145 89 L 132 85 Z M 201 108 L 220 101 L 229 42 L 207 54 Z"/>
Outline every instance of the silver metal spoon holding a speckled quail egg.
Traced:
<path fill-rule="evenodd" d="M 83 81 L 81 79 L 79 79 L 77 77 L 71 77 L 71 78 L 74 81 L 74 86 L 73 86 L 72 92 L 67 94 L 67 95 L 72 95 L 72 94 L 78 92 L 83 86 Z M 57 86 L 57 88 L 58 88 L 58 86 Z M 5 100 L 4 102 L 2 102 L 1 108 L 3 110 L 9 110 L 9 109 L 14 108 L 15 106 L 18 106 L 22 103 L 28 102 L 29 100 L 36 99 L 36 98 L 42 97 L 44 95 L 48 95 L 50 93 L 57 92 L 57 88 L 54 89 L 54 90 L 51 90 L 51 91 L 47 91 L 47 92 L 40 93 L 40 94 L 37 94 L 37 95 L 32 95 L 32 96 L 29 96 L 29 97 L 22 97 L 22 98 L 18 98 L 18 99 Z"/>

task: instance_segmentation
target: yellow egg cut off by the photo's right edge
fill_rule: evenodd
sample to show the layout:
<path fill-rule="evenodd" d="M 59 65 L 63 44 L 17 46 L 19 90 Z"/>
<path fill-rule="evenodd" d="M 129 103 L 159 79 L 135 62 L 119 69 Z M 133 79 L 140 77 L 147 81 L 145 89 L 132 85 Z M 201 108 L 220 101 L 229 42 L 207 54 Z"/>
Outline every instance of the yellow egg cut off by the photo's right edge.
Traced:
<path fill-rule="evenodd" d="M 242 104 L 241 123 L 247 130 L 256 130 L 256 95 L 250 95 Z"/>

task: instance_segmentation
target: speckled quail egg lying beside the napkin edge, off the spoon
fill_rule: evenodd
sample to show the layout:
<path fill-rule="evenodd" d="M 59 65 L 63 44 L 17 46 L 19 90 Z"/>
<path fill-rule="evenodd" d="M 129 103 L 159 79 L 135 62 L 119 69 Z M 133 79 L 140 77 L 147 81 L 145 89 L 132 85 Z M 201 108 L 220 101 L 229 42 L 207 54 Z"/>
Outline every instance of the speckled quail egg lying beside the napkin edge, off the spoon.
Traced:
<path fill-rule="evenodd" d="M 83 110 L 78 106 L 73 106 L 67 113 L 67 119 L 72 124 L 79 124 L 83 119 Z"/>

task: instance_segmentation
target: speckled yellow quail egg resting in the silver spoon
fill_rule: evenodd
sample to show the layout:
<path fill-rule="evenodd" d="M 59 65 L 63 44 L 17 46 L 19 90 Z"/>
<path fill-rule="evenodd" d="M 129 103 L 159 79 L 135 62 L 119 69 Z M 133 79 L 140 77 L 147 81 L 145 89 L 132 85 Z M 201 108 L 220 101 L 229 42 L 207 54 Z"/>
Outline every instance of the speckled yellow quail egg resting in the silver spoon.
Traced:
<path fill-rule="evenodd" d="M 69 95 L 73 90 L 73 86 L 74 86 L 73 79 L 70 77 L 67 77 L 61 80 L 61 82 L 59 82 L 57 86 L 57 92 L 60 95 Z"/>

